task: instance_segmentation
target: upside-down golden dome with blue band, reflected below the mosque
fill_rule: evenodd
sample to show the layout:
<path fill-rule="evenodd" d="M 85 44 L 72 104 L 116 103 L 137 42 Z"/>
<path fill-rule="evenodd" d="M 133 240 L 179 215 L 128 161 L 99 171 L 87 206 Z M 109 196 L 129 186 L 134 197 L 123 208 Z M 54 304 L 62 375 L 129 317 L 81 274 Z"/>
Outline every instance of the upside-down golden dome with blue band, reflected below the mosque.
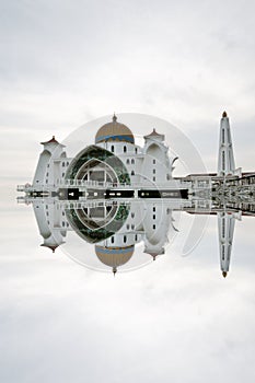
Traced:
<path fill-rule="evenodd" d="M 128 247 L 104 247 L 95 246 L 95 254 L 102 264 L 117 269 L 131 258 L 135 246 Z"/>

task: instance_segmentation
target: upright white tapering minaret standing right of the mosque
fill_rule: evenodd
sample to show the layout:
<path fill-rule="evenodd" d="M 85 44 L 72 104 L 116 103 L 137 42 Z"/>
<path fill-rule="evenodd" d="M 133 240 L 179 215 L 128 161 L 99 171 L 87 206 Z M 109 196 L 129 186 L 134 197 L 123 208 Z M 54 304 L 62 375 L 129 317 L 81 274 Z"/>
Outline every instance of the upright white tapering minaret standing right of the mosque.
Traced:
<path fill-rule="evenodd" d="M 227 112 L 223 112 L 220 121 L 220 144 L 218 160 L 218 175 L 233 175 L 235 171 L 233 146 L 230 132 L 230 121 Z"/>

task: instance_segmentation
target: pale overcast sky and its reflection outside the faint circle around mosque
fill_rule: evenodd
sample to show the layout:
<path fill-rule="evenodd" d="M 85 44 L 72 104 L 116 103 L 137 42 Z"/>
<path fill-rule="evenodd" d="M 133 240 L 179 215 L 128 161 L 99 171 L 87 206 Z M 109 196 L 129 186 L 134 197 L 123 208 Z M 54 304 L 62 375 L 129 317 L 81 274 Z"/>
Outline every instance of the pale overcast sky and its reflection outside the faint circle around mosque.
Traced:
<path fill-rule="evenodd" d="M 14 200 L 40 141 L 113 112 L 169 120 L 215 171 L 227 109 L 236 165 L 254 170 L 254 14 L 252 0 L 0 0 L 2 382 L 254 382 L 252 219 L 227 280 L 213 218 L 188 258 L 114 280 L 38 247 Z"/>

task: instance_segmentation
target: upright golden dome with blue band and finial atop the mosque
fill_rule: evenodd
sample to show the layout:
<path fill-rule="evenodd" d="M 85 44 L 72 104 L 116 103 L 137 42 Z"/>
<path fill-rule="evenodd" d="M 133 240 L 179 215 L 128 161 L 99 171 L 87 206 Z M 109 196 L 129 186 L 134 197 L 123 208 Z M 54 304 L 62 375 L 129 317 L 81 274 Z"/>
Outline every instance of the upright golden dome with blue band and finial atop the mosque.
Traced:
<path fill-rule="evenodd" d="M 114 115 L 113 121 L 103 125 L 95 136 L 95 143 L 106 141 L 135 143 L 135 138 L 131 130 L 126 125 L 117 123 L 117 117 Z"/>

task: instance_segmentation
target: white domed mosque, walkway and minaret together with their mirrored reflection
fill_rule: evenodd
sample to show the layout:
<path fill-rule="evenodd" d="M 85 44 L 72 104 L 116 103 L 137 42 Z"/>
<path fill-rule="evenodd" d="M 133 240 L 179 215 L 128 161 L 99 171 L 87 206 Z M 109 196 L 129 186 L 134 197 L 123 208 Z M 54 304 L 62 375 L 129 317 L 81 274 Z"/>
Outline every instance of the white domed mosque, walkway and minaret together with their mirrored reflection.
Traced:
<path fill-rule="evenodd" d="M 255 216 L 255 173 L 235 169 L 225 113 L 218 173 L 173 177 L 176 158 L 164 135 L 153 129 L 144 146 L 137 146 L 115 115 L 98 129 L 95 144 L 74 158 L 67 156 L 55 137 L 43 146 L 33 184 L 18 187 L 25 193 L 19 200 L 33 205 L 43 246 L 55 252 L 74 232 L 116 274 L 140 243 L 153 259 L 165 253 L 177 231 L 174 212 L 217 214 L 220 267 L 227 276 L 235 220 Z"/>

